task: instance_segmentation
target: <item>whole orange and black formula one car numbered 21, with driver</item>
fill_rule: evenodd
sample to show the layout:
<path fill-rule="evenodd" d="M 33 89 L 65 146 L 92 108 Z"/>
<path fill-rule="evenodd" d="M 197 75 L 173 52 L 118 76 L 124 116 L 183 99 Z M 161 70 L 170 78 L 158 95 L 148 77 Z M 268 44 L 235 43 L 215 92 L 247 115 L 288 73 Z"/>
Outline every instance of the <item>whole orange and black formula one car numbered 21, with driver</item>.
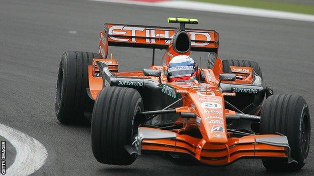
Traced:
<path fill-rule="evenodd" d="M 310 140 L 305 100 L 273 95 L 254 61 L 219 59 L 216 31 L 185 28 L 196 19 L 168 22 L 180 27 L 106 24 L 99 53 L 64 53 L 57 119 L 91 121 L 94 156 L 106 164 L 158 152 L 212 166 L 262 158 L 268 170 L 302 168 Z M 119 72 L 108 46 L 151 48 L 152 65 Z M 154 65 L 155 49 L 166 50 L 162 66 Z M 198 68 L 191 51 L 207 52 L 208 68 Z"/>

